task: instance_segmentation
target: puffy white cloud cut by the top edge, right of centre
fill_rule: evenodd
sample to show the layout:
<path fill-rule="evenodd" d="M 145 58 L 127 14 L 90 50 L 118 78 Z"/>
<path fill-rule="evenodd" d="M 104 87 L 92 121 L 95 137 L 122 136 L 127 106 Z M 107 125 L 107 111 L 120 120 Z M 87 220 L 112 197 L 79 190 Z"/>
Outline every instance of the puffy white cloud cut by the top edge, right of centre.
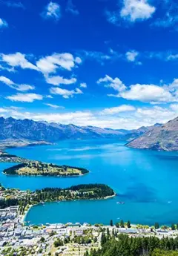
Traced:
<path fill-rule="evenodd" d="M 120 12 L 123 19 L 130 22 L 150 19 L 156 8 L 148 3 L 148 0 L 124 0 L 124 6 Z"/>

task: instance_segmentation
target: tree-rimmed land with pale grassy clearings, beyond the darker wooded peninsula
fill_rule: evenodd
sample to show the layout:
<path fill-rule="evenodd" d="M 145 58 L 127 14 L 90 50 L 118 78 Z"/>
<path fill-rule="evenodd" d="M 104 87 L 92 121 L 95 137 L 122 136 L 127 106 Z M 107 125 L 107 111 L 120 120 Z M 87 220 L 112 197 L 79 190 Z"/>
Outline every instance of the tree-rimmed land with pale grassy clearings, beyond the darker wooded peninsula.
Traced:
<path fill-rule="evenodd" d="M 85 168 L 67 166 L 67 165 L 54 165 L 52 163 L 42 163 L 39 161 L 26 161 L 19 165 L 12 166 L 4 169 L 3 173 L 7 175 L 23 175 L 23 176 L 81 176 L 88 174 Z"/>

